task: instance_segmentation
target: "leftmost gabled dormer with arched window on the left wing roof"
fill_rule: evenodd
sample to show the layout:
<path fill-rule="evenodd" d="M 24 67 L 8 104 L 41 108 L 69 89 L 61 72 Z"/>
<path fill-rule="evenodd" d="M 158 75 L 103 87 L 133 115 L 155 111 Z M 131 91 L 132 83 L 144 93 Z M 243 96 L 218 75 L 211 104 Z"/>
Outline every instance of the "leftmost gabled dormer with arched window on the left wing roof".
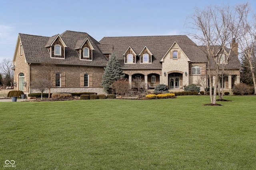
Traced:
<path fill-rule="evenodd" d="M 51 58 L 65 59 L 67 45 L 60 37 L 60 34 L 50 37 L 45 47 L 48 49 Z"/>

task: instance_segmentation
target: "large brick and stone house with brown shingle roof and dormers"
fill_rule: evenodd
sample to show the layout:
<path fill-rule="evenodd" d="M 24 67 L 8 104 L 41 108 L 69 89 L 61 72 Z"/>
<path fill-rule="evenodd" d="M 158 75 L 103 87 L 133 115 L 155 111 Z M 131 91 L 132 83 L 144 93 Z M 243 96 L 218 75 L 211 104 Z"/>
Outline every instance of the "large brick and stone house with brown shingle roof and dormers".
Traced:
<path fill-rule="evenodd" d="M 32 82 L 44 71 L 41 64 L 50 62 L 56 70 L 51 92 L 105 94 L 100 83 L 114 51 L 131 88 L 133 82 L 143 82 L 148 89 L 166 84 L 170 92 L 183 91 L 207 75 L 208 62 L 201 49 L 186 35 L 104 37 L 98 42 L 88 33 L 75 31 L 52 37 L 19 33 L 12 61 L 14 89 L 37 92 Z M 232 53 L 235 57 L 225 68 L 224 91 L 240 82 L 237 48 Z"/>

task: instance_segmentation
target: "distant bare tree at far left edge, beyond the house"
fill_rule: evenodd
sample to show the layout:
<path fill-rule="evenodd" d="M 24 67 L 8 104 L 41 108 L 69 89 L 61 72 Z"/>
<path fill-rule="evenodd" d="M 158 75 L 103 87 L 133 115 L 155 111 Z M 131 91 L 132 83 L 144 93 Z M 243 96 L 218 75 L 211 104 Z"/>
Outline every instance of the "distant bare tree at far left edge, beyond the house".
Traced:
<path fill-rule="evenodd" d="M 0 63 L 0 71 L 3 73 L 3 83 L 8 86 L 10 83 L 13 83 L 13 70 L 12 61 L 10 59 L 4 59 Z"/>

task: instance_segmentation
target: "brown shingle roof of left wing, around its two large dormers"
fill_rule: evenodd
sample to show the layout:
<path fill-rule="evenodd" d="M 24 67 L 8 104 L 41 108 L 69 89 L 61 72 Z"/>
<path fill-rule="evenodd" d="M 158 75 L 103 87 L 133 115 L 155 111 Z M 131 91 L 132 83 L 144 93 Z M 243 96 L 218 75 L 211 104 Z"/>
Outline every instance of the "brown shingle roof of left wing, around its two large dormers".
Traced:
<path fill-rule="evenodd" d="M 67 64 L 67 65 L 85 65 L 85 66 L 106 66 L 107 59 L 98 48 L 99 42 L 93 39 L 87 33 L 65 31 L 60 36 L 67 45 L 65 49 L 65 59 L 50 58 L 50 53 L 45 47 L 47 43 L 52 41 L 53 37 L 43 37 L 37 35 L 19 34 L 22 42 L 26 61 L 28 63 L 44 63 L 52 62 L 54 64 Z M 88 38 L 94 47 L 93 61 L 80 60 L 75 46 L 78 40 Z"/>

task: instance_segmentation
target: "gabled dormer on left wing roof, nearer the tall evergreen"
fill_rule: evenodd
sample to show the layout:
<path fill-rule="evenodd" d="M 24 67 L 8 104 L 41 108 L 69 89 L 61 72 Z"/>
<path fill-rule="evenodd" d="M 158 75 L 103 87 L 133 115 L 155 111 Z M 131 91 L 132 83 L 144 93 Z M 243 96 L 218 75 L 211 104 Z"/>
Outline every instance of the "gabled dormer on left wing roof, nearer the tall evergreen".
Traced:
<path fill-rule="evenodd" d="M 92 50 L 94 50 L 94 48 L 88 38 L 78 40 L 75 50 L 77 51 L 80 60 L 92 61 Z"/>

